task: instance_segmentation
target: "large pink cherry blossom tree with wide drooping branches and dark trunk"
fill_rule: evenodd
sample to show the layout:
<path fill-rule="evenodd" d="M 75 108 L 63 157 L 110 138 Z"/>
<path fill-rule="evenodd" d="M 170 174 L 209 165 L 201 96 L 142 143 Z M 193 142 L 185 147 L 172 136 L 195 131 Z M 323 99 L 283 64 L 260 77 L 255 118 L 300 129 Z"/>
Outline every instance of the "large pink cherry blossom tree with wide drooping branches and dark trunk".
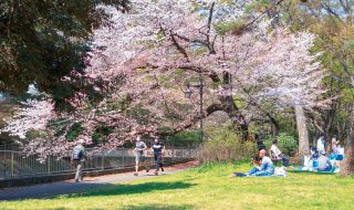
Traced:
<path fill-rule="evenodd" d="M 67 149 L 73 143 L 65 144 L 65 135 L 79 122 L 87 143 L 100 126 L 112 129 L 101 148 L 119 146 L 136 133 L 187 129 L 199 119 L 198 97 L 185 98 L 184 91 L 200 78 L 202 117 L 225 112 L 244 139 L 250 118 L 272 117 L 263 104 L 278 109 L 320 105 L 325 73 L 319 54 L 310 52 L 314 35 L 273 29 L 262 13 L 244 12 L 251 2 L 132 0 L 127 13 L 100 6 L 111 13 L 111 24 L 94 31 L 82 76 L 103 81 L 95 88 L 105 97 L 92 104 L 77 93 L 71 101 L 76 112 L 58 116 L 70 122 L 61 135 L 48 132 L 55 140 L 42 138 L 31 148 Z"/>

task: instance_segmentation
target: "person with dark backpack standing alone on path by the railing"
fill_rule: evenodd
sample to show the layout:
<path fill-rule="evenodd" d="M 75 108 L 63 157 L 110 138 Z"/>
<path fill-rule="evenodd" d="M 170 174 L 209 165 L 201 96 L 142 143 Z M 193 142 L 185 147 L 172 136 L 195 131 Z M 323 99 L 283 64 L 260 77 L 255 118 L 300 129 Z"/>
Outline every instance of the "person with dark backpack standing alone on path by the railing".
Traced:
<path fill-rule="evenodd" d="M 76 165 L 75 182 L 83 181 L 82 168 L 86 160 L 86 150 L 84 148 L 84 139 L 79 139 L 77 145 L 73 149 L 72 164 Z"/>

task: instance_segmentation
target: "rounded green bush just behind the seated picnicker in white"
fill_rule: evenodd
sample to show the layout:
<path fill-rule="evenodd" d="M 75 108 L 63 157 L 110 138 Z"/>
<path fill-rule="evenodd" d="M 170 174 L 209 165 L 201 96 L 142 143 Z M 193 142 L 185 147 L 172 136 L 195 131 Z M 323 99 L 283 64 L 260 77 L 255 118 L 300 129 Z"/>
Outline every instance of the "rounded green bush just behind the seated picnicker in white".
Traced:
<path fill-rule="evenodd" d="M 277 138 L 267 138 L 263 140 L 267 150 L 270 150 L 273 139 L 278 139 L 278 148 L 288 156 L 293 156 L 298 151 L 298 140 L 295 137 L 280 133 Z"/>

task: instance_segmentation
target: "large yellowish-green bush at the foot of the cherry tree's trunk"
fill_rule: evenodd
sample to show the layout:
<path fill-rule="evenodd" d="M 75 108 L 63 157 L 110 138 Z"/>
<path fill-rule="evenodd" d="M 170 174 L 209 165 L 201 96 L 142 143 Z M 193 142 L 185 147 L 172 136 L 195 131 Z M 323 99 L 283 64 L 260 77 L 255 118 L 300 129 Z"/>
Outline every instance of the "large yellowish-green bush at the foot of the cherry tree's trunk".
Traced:
<path fill-rule="evenodd" d="M 230 126 L 225 126 L 208 134 L 198 159 L 200 162 L 214 162 L 250 158 L 254 154 L 257 154 L 254 143 L 242 143 L 242 139 L 235 134 Z"/>

